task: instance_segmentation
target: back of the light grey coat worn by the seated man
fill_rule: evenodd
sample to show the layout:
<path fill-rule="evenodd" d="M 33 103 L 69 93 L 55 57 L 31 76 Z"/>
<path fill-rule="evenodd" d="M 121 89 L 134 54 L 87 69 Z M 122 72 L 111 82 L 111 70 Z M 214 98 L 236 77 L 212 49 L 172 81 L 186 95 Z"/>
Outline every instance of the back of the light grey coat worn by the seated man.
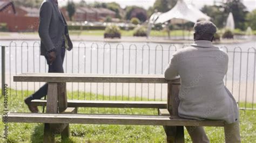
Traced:
<path fill-rule="evenodd" d="M 232 95 L 223 82 L 228 56 L 211 41 L 200 40 L 173 55 L 172 65 L 181 77 L 179 116 L 220 119 L 231 123 L 237 117 Z M 168 70 L 166 70 L 168 76 Z"/>

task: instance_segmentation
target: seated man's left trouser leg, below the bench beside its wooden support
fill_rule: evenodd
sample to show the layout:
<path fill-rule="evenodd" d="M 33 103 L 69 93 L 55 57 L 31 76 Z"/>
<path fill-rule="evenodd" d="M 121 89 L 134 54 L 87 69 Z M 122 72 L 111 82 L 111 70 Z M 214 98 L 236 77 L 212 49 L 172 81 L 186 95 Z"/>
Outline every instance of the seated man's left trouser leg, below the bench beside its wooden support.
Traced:
<path fill-rule="evenodd" d="M 207 142 L 209 143 L 209 139 L 204 131 L 204 127 L 201 126 L 186 126 L 188 134 L 190 134 L 190 138 L 194 143 L 198 142 Z"/>

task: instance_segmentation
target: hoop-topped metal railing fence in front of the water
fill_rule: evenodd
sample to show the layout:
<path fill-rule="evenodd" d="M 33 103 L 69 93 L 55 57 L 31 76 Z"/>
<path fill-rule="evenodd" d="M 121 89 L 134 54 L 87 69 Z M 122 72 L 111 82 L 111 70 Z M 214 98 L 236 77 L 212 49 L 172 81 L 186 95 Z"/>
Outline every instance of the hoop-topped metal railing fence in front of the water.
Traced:
<path fill-rule="evenodd" d="M 1 46 L 1 45 L 0 45 Z M 182 46 L 184 48 L 187 45 Z M 240 108 L 255 109 L 253 103 L 255 89 L 256 49 L 221 47 L 229 56 L 228 72 L 224 83 L 237 99 Z M 3 51 L 5 49 L 5 52 Z M 65 73 L 90 74 L 163 74 L 172 54 L 177 51 L 176 45 L 151 44 L 118 44 L 118 43 L 77 43 L 71 52 L 66 52 L 64 60 Z M 22 91 L 22 96 L 28 96 L 29 90 L 37 90 L 42 83 L 12 82 L 13 75 L 20 73 L 46 73 L 48 66 L 43 56 L 39 54 L 39 42 L 10 42 L 2 46 L 2 81 L 9 88 Z M 5 58 L 4 58 L 5 56 Z M 5 77 L 4 77 L 5 76 Z M 3 82 L 4 83 L 4 82 Z M 2 83 L 2 85 L 3 85 Z M 111 99 L 114 96 L 127 96 L 129 100 L 166 100 L 166 84 L 149 83 L 68 83 L 72 99 L 93 99 L 99 95 Z M 126 96 L 125 96 L 126 95 Z M 88 97 L 89 96 L 89 97 Z M 88 97 L 88 98 L 86 98 Z"/>

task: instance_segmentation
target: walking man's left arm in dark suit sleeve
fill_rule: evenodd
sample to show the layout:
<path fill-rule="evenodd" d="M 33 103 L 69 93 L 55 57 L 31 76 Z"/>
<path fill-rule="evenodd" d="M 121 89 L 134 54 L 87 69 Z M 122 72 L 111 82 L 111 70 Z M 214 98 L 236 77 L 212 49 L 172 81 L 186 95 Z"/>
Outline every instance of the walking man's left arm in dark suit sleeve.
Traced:
<path fill-rule="evenodd" d="M 39 37 L 45 45 L 46 51 L 53 51 L 55 46 L 49 35 L 49 26 L 52 16 L 52 6 L 49 2 L 44 2 L 40 8 L 40 23 L 38 28 Z"/>

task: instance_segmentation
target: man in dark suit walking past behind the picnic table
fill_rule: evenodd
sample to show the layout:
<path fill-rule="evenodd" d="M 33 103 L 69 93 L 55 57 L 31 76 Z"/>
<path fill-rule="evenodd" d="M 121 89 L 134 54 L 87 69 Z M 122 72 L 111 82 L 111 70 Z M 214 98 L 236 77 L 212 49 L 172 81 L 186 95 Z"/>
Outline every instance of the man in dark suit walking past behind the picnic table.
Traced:
<path fill-rule="evenodd" d="M 45 0 L 40 8 L 39 37 L 41 38 L 41 55 L 45 56 L 49 66 L 48 73 L 64 73 L 63 61 L 65 50 L 73 48 L 69 38 L 68 26 L 62 12 L 58 8 L 58 0 Z M 38 112 L 37 106 L 32 106 L 33 99 L 46 96 L 48 83 L 38 91 L 25 98 L 31 112 Z"/>

